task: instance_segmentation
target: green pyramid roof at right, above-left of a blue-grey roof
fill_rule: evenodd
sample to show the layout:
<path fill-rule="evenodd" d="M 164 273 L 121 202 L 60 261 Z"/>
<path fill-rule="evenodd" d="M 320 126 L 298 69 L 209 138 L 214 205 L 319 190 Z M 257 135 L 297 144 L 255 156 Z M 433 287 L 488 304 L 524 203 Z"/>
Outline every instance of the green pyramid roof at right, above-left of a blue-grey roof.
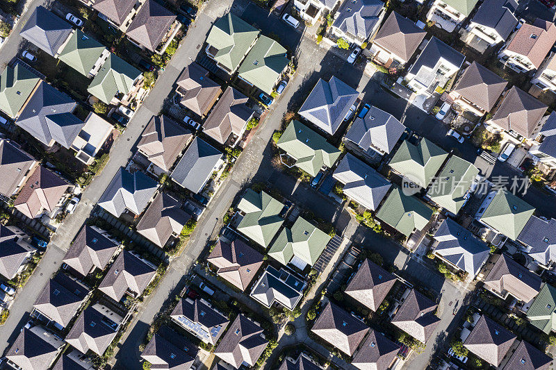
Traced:
<path fill-rule="evenodd" d="M 500 189 L 486 207 L 480 221 L 515 240 L 533 213 L 532 205 L 507 190 Z"/>

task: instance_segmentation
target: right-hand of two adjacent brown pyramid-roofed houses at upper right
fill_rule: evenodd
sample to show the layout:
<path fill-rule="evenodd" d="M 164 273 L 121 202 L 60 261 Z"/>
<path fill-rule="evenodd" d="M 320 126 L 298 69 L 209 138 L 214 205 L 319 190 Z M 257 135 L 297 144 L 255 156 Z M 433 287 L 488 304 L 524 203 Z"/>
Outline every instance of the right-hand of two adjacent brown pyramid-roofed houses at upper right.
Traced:
<path fill-rule="evenodd" d="M 541 118 L 548 107 L 527 92 L 512 86 L 496 109 L 494 116 L 486 121 L 498 131 L 507 131 L 509 139 L 521 143 L 522 138 L 534 139 L 541 130 Z"/>

